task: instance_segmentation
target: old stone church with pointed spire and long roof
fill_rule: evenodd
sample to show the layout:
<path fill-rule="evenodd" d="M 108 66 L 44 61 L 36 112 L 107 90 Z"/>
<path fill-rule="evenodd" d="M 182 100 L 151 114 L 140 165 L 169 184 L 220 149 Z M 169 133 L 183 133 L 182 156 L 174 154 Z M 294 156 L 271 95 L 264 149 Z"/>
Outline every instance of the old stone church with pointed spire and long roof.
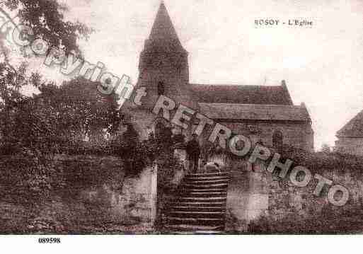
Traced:
<path fill-rule="evenodd" d="M 211 59 L 212 60 L 212 59 Z M 159 96 L 200 112 L 265 146 L 287 144 L 313 151 L 313 129 L 306 105 L 294 105 L 286 81 L 276 86 L 238 86 L 190 83 L 188 52 L 181 44 L 166 6 L 161 3 L 149 38 L 139 57 L 136 88 L 146 88 L 142 106 L 125 103 L 122 110 L 132 117 L 143 138 L 163 128 L 190 137 L 190 129 L 178 129 L 152 114 Z M 203 144 L 205 139 L 200 138 Z"/>

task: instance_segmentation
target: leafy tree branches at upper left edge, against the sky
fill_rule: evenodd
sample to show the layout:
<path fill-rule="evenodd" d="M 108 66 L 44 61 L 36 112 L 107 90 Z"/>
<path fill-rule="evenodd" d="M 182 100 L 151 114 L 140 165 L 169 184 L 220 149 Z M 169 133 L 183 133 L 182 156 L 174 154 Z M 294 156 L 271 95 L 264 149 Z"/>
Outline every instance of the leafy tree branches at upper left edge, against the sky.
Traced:
<path fill-rule="evenodd" d="M 7 11 L 15 12 L 18 18 L 20 18 L 21 23 L 33 29 L 33 39 L 42 38 L 51 47 L 58 47 L 65 52 L 80 53 L 77 40 L 80 37 L 88 38 L 92 31 L 91 28 L 82 23 L 65 21 L 64 11 L 67 11 L 67 6 L 59 4 L 59 1 L 56 0 L 1 1 L 0 12 L 7 16 L 16 27 Z M 5 36 L 1 36 L 0 50 L 3 54 L 4 62 L 0 62 L 0 115 L 3 116 L 0 117 L 0 124 L 11 126 L 13 125 L 13 122 L 10 120 L 11 117 L 6 118 L 4 115 L 16 115 L 23 110 L 23 108 L 18 107 L 23 105 L 23 100 L 26 102 L 28 98 L 19 92 L 21 87 L 25 85 L 40 86 L 41 76 L 39 74 L 27 76 L 27 64 L 25 62 L 20 67 L 13 67 L 8 50 L 4 46 L 4 40 Z M 44 117 L 47 117 L 47 115 L 44 115 Z M 40 125 L 41 122 L 35 122 L 35 125 Z M 2 129 L 2 132 L 7 132 L 4 128 Z"/>

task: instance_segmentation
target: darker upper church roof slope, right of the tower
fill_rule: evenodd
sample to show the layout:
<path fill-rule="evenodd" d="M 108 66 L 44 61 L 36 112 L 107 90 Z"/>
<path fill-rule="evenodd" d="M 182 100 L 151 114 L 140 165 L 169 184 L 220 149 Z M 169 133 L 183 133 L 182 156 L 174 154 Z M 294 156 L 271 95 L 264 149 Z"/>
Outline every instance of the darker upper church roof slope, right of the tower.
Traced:
<path fill-rule="evenodd" d="M 237 86 L 190 84 L 200 103 L 293 105 L 287 86 Z"/>

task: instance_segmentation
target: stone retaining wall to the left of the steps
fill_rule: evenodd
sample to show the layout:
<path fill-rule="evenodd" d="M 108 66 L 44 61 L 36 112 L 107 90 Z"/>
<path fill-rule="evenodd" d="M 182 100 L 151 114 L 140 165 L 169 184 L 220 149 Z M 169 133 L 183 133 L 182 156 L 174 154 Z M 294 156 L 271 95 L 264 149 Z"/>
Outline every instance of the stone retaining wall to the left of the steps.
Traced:
<path fill-rule="evenodd" d="M 25 204 L 16 192 L 0 199 L 0 233 L 154 231 L 156 168 L 125 177 L 122 160 L 112 156 L 58 156 L 55 165 L 62 187 L 49 199 Z"/>

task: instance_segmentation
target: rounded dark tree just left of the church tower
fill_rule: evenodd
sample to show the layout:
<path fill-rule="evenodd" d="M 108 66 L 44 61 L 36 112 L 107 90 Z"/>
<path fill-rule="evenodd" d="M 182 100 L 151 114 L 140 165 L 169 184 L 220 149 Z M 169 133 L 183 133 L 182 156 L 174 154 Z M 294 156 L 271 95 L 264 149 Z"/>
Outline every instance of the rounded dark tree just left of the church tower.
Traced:
<path fill-rule="evenodd" d="M 40 86 L 35 100 L 42 100 L 45 107 L 57 112 L 57 134 L 64 140 L 79 142 L 86 137 L 100 143 L 105 133 L 113 134 L 122 120 L 118 96 L 103 96 L 98 92 L 98 82 L 78 77 L 61 86 Z"/>

